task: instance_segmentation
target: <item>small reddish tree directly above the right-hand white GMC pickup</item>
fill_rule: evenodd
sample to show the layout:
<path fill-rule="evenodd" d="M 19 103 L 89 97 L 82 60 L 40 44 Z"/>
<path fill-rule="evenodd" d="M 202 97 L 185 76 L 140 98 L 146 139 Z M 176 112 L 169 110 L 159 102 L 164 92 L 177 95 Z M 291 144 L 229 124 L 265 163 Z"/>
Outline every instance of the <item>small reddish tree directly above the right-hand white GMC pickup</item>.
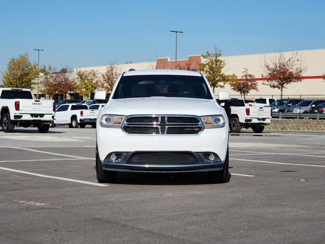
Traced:
<path fill-rule="evenodd" d="M 257 88 L 257 82 L 255 81 L 255 76 L 248 73 L 248 69 L 244 68 L 242 72 L 242 79 L 241 80 L 235 80 L 230 83 L 230 87 L 240 95 L 244 96 L 244 99 L 246 98 L 246 95 L 251 90 L 258 90 Z"/>

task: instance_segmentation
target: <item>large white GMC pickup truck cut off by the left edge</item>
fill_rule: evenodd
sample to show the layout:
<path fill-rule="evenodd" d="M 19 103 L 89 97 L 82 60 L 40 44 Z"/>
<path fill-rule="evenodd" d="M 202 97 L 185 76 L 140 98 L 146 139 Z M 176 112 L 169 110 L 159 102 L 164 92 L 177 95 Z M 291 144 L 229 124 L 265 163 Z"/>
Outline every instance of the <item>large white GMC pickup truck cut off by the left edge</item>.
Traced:
<path fill-rule="evenodd" d="M 0 124 L 3 132 L 12 132 L 15 126 L 34 126 L 40 133 L 47 133 L 54 111 L 53 100 L 34 100 L 29 89 L 0 88 Z"/>

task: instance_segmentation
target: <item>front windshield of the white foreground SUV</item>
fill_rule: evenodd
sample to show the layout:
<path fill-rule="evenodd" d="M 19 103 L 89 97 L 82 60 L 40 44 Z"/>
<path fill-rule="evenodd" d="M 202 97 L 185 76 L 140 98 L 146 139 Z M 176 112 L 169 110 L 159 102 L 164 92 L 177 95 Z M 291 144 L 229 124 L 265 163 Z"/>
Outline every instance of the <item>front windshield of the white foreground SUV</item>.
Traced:
<path fill-rule="evenodd" d="M 187 75 L 122 76 L 113 99 L 148 97 L 212 99 L 202 76 Z"/>

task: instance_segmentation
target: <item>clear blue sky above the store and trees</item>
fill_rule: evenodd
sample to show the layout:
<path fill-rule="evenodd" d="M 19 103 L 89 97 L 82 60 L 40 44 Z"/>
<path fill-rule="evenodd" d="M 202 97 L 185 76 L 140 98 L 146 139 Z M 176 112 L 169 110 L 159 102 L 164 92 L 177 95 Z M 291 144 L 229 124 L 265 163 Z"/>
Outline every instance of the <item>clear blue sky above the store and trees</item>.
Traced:
<path fill-rule="evenodd" d="M 45 49 L 58 68 L 325 48 L 325 1 L 2 1 L 0 77 L 9 58 Z"/>

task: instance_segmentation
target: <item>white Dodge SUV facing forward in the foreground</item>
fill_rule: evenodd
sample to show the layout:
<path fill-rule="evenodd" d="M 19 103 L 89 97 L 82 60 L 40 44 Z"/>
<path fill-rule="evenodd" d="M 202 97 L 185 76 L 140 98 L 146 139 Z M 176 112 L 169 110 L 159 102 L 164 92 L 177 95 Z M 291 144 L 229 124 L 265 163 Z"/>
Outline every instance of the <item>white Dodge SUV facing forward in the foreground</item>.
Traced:
<path fill-rule="evenodd" d="M 200 72 L 124 72 L 96 123 L 99 182 L 114 182 L 117 171 L 208 171 L 212 182 L 227 180 L 228 117 Z"/>

